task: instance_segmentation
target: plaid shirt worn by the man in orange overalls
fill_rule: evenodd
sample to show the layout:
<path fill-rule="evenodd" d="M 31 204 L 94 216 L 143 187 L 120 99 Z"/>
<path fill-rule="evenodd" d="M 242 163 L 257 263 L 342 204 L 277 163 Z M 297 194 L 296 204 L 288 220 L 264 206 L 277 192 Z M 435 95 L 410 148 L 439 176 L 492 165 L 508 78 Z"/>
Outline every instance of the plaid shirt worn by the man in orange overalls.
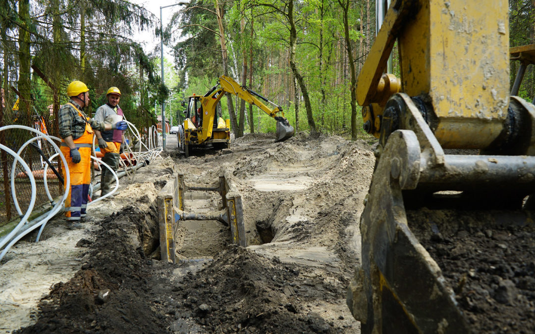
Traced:
<path fill-rule="evenodd" d="M 86 116 L 82 107 L 80 107 L 78 103 L 73 100 L 70 100 L 69 103 L 72 103 L 77 107 L 84 117 Z M 90 118 L 88 123 L 91 128 L 98 131 L 104 131 L 104 122 L 99 122 Z M 83 135 L 85 130 L 86 119 L 82 118 L 72 105 L 64 104 L 59 110 L 59 136 L 62 138 L 72 136 L 73 139 L 78 139 Z"/>

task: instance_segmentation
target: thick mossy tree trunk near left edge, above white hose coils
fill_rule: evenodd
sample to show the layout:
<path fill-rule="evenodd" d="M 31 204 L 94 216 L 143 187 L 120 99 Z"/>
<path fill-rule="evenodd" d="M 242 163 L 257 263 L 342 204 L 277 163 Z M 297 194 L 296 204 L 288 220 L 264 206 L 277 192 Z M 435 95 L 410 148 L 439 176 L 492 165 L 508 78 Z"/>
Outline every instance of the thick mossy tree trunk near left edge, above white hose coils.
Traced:
<path fill-rule="evenodd" d="M 19 1 L 19 19 L 21 26 L 19 28 L 19 82 L 18 90 L 20 91 L 19 114 L 26 117 L 24 125 L 30 125 L 30 32 L 28 23 L 30 22 L 30 4 L 29 0 Z M 24 118 L 24 117 L 22 117 Z"/>

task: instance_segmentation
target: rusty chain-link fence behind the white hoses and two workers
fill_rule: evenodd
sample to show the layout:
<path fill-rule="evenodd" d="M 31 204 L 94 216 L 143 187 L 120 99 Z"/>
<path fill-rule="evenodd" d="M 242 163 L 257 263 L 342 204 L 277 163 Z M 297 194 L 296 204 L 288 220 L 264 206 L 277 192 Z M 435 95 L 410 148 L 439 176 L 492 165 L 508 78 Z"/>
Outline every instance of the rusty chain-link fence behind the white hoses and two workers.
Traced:
<path fill-rule="evenodd" d="M 24 108 L 20 107 L 25 104 L 20 103 L 18 92 L 15 89 L 12 89 L 12 91 L 4 91 L 2 89 L 1 95 L 0 127 L 9 125 L 27 126 L 59 138 L 58 111 L 60 105 L 57 97 L 50 96 L 44 99 L 52 102 L 50 105 L 34 100 L 29 101 L 26 104 L 29 107 Z M 56 101 L 56 103 L 53 101 Z M 148 129 L 154 125 L 151 116 L 143 110 L 124 110 L 124 112 L 126 119 L 139 129 L 143 142 L 147 143 Z M 46 185 L 48 185 L 52 198 L 57 199 L 63 195 L 61 160 L 58 156 L 51 158 L 57 153 L 56 150 L 46 139 L 37 139 L 37 136 L 36 133 L 25 129 L 5 129 L 0 131 L 0 144 L 19 154 L 32 170 L 36 183 L 35 212 L 41 211 L 39 208 L 43 205 L 49 207 L 50 200 L 46 192 Z M 129 136 L 127 133 L 126 137 L 129 139 L 131 146 L 140 145 L 140 143 L 136 142 L 137 139 L 134 136 Z M 36 139 L 31 141 L 30 139 L 33 138 Z M 30 142 L 27 143 L 28 141 Z M 60 145 L 59 141 L 54 142 L 58 146 Z M 21 150 L 21 147 L 26 143 L 26 147 Z M 20 219 L 17 204 L 22 215 L 25 214 L 32 194 L 32 185 L 25 169 L 20 163 L 14 165 L 13 161 L 12 154 L 5 149 L 0 149 L 0 229 L 5 224 Z M 46 165 L 49 167 L 45 168 Z M 45 169 L 47 169 L 46 178 L 44 177 Z M 14 187 L 12 187 L 12 181 Z"/>

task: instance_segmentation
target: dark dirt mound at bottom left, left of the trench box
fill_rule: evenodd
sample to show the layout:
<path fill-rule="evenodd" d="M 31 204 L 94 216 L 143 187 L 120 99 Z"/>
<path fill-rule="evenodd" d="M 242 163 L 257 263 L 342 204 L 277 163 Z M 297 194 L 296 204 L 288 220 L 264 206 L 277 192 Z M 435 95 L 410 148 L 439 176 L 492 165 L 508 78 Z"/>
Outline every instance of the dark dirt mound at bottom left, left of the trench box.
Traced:
<path fill-rule="evenodd" d="M 89 245 L 86 263 L 67 283 L 52 287 L 39 304 L 39 320 L 20 333 L 166 332 L 147 292 L 149 271 L 137 239 L 137 218 L 145 214 L 127 208 L 100 222 Z M 137 247 L 136 247 L 137 245 Z"/>

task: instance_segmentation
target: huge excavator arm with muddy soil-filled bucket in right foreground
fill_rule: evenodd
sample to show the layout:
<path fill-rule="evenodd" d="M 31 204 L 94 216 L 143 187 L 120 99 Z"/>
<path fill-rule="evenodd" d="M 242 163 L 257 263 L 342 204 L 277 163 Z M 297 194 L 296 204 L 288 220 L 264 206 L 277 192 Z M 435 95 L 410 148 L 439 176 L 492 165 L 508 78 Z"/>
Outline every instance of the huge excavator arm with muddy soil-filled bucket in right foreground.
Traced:
<path fill-rule="evenodd" d="M 515 294 L 523 265 L 496 262 L 533 236 L 535 201 L 535 107 L 509 92 L 508 2 L 482 4 L 393 0 L 358 76 L 379 138 L 347 294 L 363 333 L 487 332 L 501 317 L 493 332 L 533 331 L 529 306 L 482 320 L 531 298 Z M 384 73 L 396 40 L 400 78 Z"/>

